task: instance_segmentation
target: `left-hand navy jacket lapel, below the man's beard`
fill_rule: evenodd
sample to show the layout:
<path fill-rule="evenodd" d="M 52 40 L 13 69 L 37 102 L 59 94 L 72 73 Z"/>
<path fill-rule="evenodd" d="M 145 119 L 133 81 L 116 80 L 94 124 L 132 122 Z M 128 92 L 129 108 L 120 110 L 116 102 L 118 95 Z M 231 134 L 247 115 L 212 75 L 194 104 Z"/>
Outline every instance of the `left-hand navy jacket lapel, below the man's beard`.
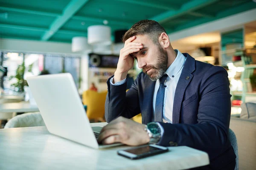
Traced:
<path fill-rule="evenodd" d="M 146 86 L 144 90 L 144 101 L 143 101 L 143 111 L 142 111 L 142 123 L 147 124 L 148 122 L 152 122 L 153 115 L 153 96 L 154 96 L 154 88 L 156 82 L 151 81 L 148 77 L 146 79 Z"/>

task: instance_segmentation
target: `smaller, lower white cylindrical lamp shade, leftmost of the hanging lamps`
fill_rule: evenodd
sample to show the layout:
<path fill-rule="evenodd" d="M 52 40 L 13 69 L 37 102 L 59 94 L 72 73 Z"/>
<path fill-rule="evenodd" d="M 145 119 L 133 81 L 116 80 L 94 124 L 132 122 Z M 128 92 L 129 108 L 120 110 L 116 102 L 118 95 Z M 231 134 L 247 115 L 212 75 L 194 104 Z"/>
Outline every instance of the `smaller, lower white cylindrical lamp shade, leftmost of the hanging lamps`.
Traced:
<path fill-rule="evenodd" d="M 72 51 L 91 51 L 91 47 L 87 42 L 86 37 L 73 37 L 72 38 Z"/>

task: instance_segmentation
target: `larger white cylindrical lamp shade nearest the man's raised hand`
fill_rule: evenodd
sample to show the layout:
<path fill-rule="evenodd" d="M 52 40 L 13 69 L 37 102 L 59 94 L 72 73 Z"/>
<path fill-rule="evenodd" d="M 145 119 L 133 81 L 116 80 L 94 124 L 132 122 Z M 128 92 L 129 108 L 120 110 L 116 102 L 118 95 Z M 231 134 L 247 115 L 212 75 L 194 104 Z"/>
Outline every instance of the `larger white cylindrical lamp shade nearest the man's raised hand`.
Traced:
<path fill-rule="evenodd" d="M 110 45 L 111 28 L 109 26 L 89 26 L 87 29 L 88 44 Z"/>

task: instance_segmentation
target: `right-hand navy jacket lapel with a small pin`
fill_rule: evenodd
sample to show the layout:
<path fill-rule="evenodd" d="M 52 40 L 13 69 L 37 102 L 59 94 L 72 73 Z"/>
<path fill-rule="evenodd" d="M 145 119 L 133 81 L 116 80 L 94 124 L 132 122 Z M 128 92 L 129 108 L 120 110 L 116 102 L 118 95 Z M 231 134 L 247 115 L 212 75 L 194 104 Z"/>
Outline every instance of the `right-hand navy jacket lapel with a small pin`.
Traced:
<path fill-rule="evenodd" d="M 184 63 L 182 72 L 180 74 L 180 79 L 177 83 L 175 90 L 174 102 L 173 102 L 173 111 L 172 111 L 172 123 L 180 122 L 180 108 L 183 101 L 184 93 L 186 91 L 189 82 L 193 78 L 192 72 L 195 71 L 195 59 L 192 58 L 189 54 L 183 53 L 186 57 L 186 62 Z"/>

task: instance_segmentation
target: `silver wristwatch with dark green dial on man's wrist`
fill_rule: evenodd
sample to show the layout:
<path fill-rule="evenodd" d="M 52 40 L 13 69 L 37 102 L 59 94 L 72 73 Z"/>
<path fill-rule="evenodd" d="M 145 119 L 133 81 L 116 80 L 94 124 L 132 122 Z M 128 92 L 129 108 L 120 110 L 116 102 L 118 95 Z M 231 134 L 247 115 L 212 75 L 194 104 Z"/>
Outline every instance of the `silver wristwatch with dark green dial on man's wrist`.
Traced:
<path fill-rule="evenodd" d="M 145 125 L 145 131 L 150 138 L 149 144 L 156 144 L 162 137 L 163 130 L 158 122 L 150 122 Z"/>

